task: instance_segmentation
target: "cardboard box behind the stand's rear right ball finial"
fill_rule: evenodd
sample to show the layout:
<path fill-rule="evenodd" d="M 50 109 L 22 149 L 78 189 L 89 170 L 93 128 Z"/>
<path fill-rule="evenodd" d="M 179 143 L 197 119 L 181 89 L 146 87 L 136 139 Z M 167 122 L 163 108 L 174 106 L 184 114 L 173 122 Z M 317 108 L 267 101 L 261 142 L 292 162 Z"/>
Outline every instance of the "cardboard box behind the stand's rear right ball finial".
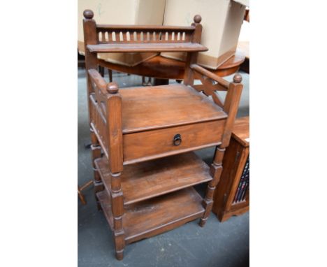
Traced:
<path fill-rule="evenodd" d="M 202 17 L 201 43 L 209 48 L 198 54 L 198 64 L 217 69 L 235 55 L 245 6 L 230 0 L 166 0 L 164 25 L 189 26 L 194 15 Z M 185 60 L 185 53 L 161 53 L 163 57 Z"/>

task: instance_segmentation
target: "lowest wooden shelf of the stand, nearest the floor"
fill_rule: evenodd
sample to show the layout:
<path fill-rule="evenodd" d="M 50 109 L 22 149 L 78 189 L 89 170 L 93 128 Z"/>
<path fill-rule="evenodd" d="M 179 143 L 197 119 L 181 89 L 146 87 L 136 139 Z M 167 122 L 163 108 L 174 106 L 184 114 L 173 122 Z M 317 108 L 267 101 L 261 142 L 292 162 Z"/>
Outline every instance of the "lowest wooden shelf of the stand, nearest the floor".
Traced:
<path fill-rule="evenodd" d="M 112 229 L 110 196 L 106 190 L 96 194 Z M 149 238 L 201 217 L 202 198 L 193 187 L 125 206 L 122 218 L 126 243 Z"/>

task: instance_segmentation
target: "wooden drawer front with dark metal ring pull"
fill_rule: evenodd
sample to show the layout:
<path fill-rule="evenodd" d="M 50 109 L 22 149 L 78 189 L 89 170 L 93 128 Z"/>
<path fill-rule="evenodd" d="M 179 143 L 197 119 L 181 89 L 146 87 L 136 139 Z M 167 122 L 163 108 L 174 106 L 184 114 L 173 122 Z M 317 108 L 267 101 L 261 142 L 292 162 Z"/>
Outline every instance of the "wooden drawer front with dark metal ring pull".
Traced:
<path fill-rule="evenodd" d="M 124 164 L 218 145 L 221 142 L 225 122 L 226 120 L 217 120 L 139 133 L 126 133 L 123 136 Z"/>

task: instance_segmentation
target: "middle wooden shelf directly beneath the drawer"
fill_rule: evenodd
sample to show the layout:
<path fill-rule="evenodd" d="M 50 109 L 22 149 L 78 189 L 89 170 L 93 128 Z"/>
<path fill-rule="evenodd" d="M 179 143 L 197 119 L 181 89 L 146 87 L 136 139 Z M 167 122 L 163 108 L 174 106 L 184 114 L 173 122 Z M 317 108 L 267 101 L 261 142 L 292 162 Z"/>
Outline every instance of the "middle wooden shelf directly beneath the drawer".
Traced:
<path fill-rule="evenodd" d="M 95 164 L 103 185 L 110 192 L 111 176 L 106 157 L 96 159 Z M 125 166 L 120 179 L 124 205 L 128 205 L 208 182 L 212 177 L 209 166 L 194 152 L 188 152 Z"/>

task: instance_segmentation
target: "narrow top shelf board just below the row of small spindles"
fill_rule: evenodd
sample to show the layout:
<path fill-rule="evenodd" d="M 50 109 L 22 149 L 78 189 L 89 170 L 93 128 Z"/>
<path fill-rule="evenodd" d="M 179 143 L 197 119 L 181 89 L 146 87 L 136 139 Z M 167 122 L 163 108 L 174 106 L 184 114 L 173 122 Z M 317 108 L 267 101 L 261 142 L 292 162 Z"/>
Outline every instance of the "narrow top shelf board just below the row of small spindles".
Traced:
<path fill-rule="evenodd" d="M 199 43 L 104 43 L 87 45 L 89 52 L 126 53 L 126 52 L 203 52 L 208 48 Z"/>

